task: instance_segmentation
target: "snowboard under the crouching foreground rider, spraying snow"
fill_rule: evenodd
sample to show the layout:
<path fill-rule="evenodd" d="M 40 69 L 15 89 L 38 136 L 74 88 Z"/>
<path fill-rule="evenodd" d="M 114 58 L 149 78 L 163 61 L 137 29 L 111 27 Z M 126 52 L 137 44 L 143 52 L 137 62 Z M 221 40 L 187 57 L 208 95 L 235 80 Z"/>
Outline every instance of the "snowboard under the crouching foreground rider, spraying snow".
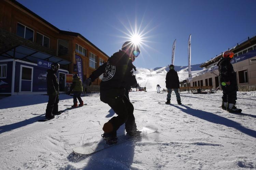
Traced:
<path fill-rule="evenodd" d="M 154 133 L 158 130 L 157 127 L 152 126 L 152 125 L 147 125 L 145 127 L 143 127 L 142 129 L 140 129 L 139 131 L 141 131 L 141 137 L 146 137 L 148 134 Z M 102 151 L 104 149 L 107 148 L 111 148 L 114 147 L 116 145 L 119 145 L 121 143 L 130 141 L 130 140 L 136 140 L 138 139 L 138 137 L 130 137 L 128 135 L 117 135 L 117 143 L 113 144 L 113 145 L 107 145 L 106 141 L 103 140 L 103 138 L 99 141 L 99 142 L 90 142 L 90 143 L 85 143 L 83 146 L 80 147 L 74 147 L 72 148 L 72 150 L 76 153 L 76 154 L 83 154 L 83 155 L 90 155 L 99 151 Z"/>

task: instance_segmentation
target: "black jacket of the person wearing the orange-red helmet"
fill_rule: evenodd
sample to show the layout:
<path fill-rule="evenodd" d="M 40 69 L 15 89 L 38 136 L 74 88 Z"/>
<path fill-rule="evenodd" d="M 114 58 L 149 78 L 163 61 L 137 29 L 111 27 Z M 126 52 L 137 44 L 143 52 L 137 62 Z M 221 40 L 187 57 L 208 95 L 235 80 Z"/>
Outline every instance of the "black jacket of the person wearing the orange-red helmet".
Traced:
<path fill-rule="evenodd" d="M 217 66 L 219 67 L 219 83 L 230 82 L 230 85 L 237 86 L 237 74 L 230 63 L 230 59 L 222 58 Z"/>

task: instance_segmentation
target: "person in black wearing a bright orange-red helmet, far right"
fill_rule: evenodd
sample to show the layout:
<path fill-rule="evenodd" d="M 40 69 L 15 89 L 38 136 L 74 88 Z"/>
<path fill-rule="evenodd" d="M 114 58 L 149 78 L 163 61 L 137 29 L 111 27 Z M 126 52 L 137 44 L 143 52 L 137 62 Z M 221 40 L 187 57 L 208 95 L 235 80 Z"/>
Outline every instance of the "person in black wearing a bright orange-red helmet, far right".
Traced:
<path fill-rule="evenodd" d="M 234 53 L 232 51 L 225 51 L 223 57 L 218 62 L 219 67 L 219 82 L 223 90 L 222 96 L 222 109 L 227 110 L 230 113 L 241 113 L 242 109 L 237 108 L 237 75 L 231 64 L 231 58 Z"/>

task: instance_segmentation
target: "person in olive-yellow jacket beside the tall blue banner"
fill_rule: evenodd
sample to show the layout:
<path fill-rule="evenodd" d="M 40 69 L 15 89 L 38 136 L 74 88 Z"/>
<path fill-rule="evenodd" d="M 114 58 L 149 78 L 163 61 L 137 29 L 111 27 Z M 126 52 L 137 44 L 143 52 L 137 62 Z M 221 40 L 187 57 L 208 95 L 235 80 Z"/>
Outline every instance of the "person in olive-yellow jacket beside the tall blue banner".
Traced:
<path fill-rule="evenodd" d="M 83 92 L 83 85 L 82 85 L 82 81 L 81 81 L 80 77 L 78 77 L 77 74 L 73 75 L 73 82 L 70 87 L 70 91 L 68 92 L 68 95 L 70 95 L 72 91 L 73 91 L 74 105 L 72 105 L 71 107 L 74 107 L 74 108 L 77 107 L 77 99 L 79 100 L 79 103 L 80 103 L 79 106 L 83 106 L 84 102 L 81 99 L 81 94 Z"/>

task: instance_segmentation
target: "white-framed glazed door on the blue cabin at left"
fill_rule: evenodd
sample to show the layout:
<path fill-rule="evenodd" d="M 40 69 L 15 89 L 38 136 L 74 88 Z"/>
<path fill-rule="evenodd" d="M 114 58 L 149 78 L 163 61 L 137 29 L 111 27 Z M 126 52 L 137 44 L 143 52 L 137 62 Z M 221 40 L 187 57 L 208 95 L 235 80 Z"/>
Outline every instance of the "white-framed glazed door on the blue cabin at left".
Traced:
<path fill-rule="evenodd" d="M 32 92 L 33 67 L 20 65 L 19 92 Z"/>

